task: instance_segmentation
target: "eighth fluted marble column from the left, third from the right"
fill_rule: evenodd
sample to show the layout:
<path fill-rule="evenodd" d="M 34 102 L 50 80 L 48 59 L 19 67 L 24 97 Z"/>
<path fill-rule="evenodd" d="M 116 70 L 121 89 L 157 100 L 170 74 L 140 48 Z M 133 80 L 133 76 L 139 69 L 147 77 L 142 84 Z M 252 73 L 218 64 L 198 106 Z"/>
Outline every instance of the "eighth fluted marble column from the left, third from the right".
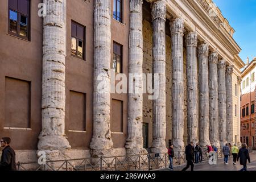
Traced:
<path fill-rule="evenodd" d="M 220 147 L 218 133 L 218 53 L 209 56 L 209 139 L 210 143 Z"/>

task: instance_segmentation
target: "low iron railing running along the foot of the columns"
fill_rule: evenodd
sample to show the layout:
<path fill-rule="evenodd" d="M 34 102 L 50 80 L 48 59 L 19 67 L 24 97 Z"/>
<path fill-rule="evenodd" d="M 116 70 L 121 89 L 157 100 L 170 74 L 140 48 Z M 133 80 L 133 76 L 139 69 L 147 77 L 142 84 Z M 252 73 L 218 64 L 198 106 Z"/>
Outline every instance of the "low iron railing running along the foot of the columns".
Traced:
<path fill-rule="evenodd" d="M 217 152 L 222 158 L 221 150 Z M 203 160 L 208 160 L 208 153 L 203 153 Z M 185 152 L 179 151 L 173 158 L 173 165 L 186 163 Z M 18 171 L 136 171 L 154 170 L 169 166 L 168 154 L 126 155 L 100 158 L 47 160 L 44 164 L 27 162 L 17 164 Z"/>

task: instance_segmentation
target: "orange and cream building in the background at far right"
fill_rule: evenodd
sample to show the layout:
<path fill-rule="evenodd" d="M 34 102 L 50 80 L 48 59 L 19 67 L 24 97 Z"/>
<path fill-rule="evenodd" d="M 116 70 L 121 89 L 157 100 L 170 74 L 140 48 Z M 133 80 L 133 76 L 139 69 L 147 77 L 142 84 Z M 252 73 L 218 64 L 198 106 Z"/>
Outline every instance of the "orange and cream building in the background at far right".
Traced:
<path fill-rule="evenodd" d="M 241 75 L 241 142 L 249 147 L 255 148 L 255 73 L 256 57 L 249 63 L 246 61 L 246 67 Z"/>

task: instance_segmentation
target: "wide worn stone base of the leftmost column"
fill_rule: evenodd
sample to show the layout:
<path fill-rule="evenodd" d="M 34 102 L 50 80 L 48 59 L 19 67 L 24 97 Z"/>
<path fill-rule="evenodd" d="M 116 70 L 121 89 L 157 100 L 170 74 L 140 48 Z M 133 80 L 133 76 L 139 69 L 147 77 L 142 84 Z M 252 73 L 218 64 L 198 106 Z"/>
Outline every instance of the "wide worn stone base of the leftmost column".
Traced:
<path fill-rule="evenodd" d="M 67 150 L 71 146 L 67 137 L 59 136 L 42 136 L 39 135 L 38 150 L 52 151 L 52 150 Z"/>

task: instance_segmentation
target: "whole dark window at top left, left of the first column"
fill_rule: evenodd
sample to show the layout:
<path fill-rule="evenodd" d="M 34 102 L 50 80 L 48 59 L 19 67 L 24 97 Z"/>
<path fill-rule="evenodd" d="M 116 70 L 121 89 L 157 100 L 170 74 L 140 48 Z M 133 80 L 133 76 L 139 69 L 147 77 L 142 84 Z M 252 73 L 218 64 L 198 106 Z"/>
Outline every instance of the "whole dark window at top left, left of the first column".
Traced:
<path fill-rule="evenodd" d="M 9 0 L 9 34 L 28 40 L 30 0 Z"/>

